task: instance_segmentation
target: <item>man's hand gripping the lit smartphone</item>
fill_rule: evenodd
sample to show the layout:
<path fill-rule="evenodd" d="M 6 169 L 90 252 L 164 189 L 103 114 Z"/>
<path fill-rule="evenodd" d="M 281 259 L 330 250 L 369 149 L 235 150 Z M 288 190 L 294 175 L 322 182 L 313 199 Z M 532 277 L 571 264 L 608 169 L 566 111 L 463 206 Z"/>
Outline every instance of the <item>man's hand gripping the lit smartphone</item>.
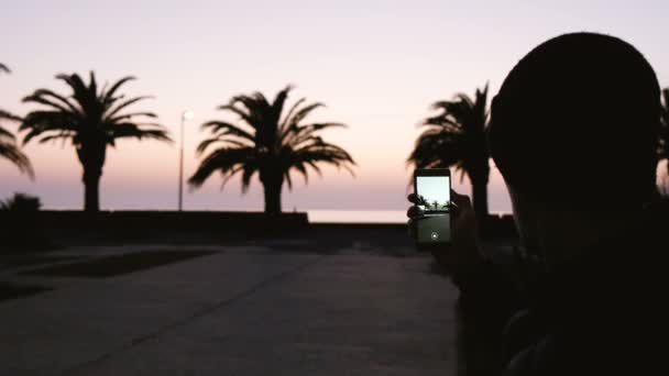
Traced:
<path fill-rule="evenodd" d="M 416 239 L 416 226 L 424 218 L 423 210 L 415 206 L 416 195 L 410 193 L 407 199 L 412 207 L 406 212 L 409 235 Z M 451 275 L 467 274 L 476 267 L 483 256 L 479 248 L 476 215 L 469 197 L 458 195 L 451 190 L 450 215 L 452 223 L 451 244 L 439 248 L 430 247 L 437 262 Z"/>

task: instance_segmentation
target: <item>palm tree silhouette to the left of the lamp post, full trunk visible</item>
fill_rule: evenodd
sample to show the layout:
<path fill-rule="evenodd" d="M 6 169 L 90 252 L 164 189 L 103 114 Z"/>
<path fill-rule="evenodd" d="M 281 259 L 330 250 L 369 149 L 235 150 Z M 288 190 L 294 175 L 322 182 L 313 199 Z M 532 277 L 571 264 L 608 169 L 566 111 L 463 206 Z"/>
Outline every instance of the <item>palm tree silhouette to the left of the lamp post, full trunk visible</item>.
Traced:
<path fill-rule="evenodd" d="M 26 131 L 24 143 L 40 136 L 40 143 L 69 140 L 84 167 L 84 210 L 99 211 L 99 184 L 107 155 L 107 147 L 116 146 L 118 139 L 155 139 L 172 142 L 167 131 L 152 122 L 136 122 L 136 118 L 154 119 L 152 112 L 122 112 L 128 107 L 149 97 L 125 98 L 117 95 L 119 88 L 133 80 L 124 77 L 98 90 L 95 74 L 88 85 L 77 74 L 57 75 L 56 79 L 69 86 L 73 93 L 65 97 L 48 89 L 37 89 L 23 98 L 23 102 L 37 103 L 45 109 L 30 112 L 23 119 L 20 131 Z"/>

